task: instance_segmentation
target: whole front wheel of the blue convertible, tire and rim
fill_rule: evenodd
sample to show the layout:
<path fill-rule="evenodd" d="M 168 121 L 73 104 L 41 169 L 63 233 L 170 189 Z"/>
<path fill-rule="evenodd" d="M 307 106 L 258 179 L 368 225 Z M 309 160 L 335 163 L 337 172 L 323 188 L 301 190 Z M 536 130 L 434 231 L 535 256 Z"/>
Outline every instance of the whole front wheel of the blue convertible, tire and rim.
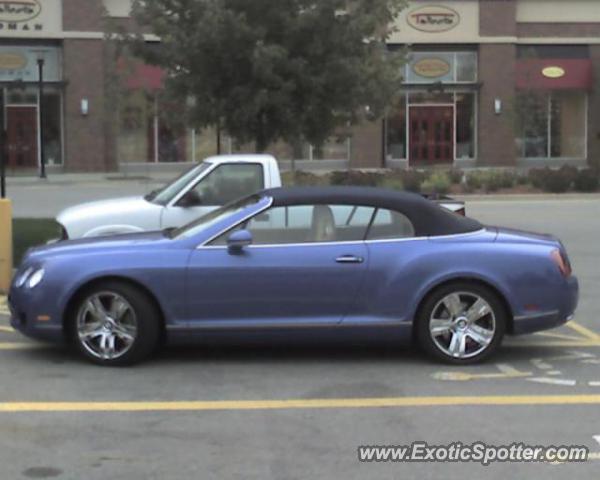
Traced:
<path fill-rule="evenodd" d="M 74 345 L 92 362 L 131 365 L 158 344 L 160 315 L 144 292 L 125 283 L 106 282 L 78 297 L 69 330 Z"/>

